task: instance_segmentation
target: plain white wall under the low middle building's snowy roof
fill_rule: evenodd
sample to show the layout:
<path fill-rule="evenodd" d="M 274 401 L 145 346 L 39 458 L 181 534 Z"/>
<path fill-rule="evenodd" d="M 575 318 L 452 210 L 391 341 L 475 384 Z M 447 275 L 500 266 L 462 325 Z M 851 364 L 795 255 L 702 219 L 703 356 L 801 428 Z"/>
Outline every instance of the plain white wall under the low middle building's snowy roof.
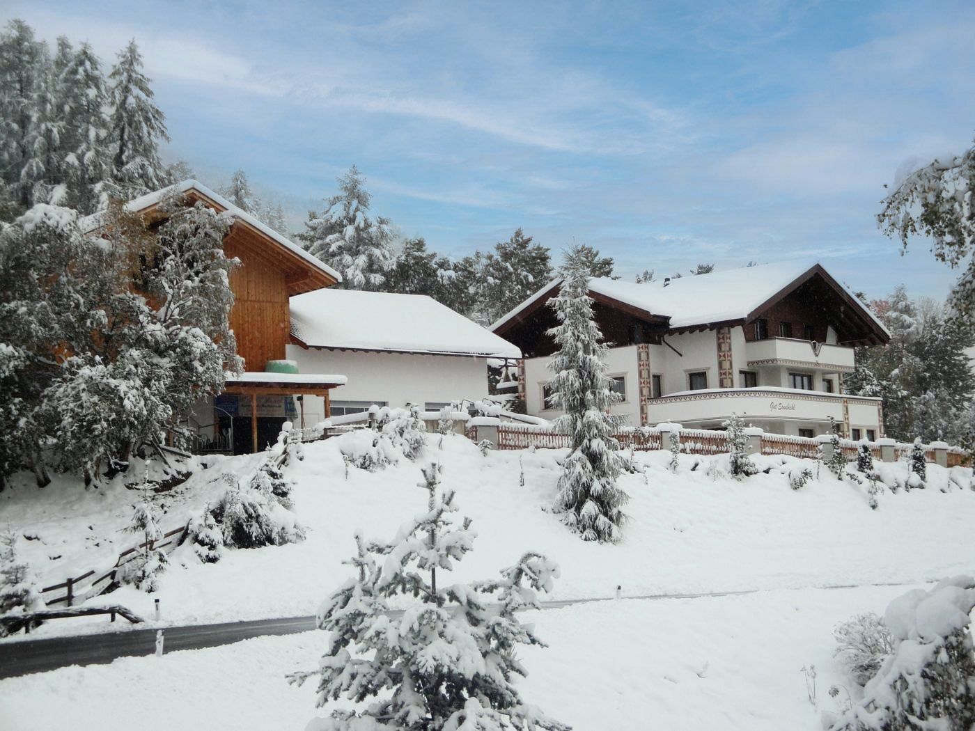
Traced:
<path fill-rule="evenodd" d="M 487 396 L 487 359 L 407 353 L 364 353 L 287 347 L 301 373 L 338 373 L 348 383 L 331 391 L 332 402 L 385 402 L 391 406 L 445 403 Z M 323 418 L 323 400 L 305 399 L 305 424 Z"/>

